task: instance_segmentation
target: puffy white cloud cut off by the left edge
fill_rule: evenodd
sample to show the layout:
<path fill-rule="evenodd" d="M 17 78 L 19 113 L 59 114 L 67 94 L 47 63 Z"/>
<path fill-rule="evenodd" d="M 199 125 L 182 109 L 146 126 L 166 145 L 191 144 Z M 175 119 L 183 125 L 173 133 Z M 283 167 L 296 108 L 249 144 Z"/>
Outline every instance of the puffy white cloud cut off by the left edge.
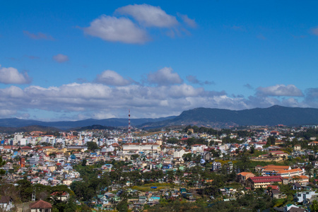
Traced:
<path fill-rule="evenodd" d="M 28 73 L 20 73 L 18 69 L 12 67 L 1 68 L 0 65 L 0 83 L 4 84 L 27 84 L 31 80 L 28 76 Z"/>

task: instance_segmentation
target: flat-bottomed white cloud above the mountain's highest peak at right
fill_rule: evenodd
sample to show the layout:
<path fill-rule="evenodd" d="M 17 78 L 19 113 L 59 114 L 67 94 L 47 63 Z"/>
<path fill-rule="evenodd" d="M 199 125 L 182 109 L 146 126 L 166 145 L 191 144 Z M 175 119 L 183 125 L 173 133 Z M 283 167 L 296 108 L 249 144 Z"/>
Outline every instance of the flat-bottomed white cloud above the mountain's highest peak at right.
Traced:
<path fill-rule="evenodd" d="M 294 85 L 276 85 L 257 88 L 257 95 L 261 96 L 303 96 L 302 91 Z"/>

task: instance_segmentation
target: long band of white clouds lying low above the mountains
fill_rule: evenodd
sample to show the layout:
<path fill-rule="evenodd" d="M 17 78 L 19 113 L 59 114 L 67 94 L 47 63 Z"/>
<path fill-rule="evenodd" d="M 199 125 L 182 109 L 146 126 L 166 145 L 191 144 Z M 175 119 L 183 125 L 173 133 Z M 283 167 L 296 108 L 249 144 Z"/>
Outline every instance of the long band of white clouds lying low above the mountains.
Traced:
<path fill-rule="evenodd" d="M 14 68 L 1 68 L 0 74 L 7 84 L 28 82 L 27 75 Z M 196 76 L 192 76 L 192 81 L 197 82 Z M 42 110 L 55 112 L 59 120 L 101 119 L 126 117 L 127 108 L 134 111 L 134 117 L 165 117 L 195 107 L 244 110 L 272 105 L 318 107 L 318 88 L 302 93 L 295 85 L 259 87 L 254 95 L 244 98 L 228 95 L 224 90 L 195 88 L 184 83 L 170 67 L 148 73 L 143 84 L 126 79 L 116 71 L 105 70 L 92 82 L 48 88 L 34 85 L 0 88 L 0 118 L 28 117 L 28 112 Z"/>

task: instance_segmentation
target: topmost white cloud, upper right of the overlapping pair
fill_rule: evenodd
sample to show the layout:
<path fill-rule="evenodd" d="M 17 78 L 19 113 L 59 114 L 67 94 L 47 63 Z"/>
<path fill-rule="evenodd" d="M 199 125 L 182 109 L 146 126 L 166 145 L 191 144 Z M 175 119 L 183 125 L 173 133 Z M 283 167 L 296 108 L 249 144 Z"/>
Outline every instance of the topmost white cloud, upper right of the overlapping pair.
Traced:
<path fill-rule="evenodd" d="M 132 16 L 141 25 L 158 28 L 171 28 L 178 24 L 175 16 L 170 16 L 159 6 L 134 4 L 117 8 L 117 13 Z"/>

